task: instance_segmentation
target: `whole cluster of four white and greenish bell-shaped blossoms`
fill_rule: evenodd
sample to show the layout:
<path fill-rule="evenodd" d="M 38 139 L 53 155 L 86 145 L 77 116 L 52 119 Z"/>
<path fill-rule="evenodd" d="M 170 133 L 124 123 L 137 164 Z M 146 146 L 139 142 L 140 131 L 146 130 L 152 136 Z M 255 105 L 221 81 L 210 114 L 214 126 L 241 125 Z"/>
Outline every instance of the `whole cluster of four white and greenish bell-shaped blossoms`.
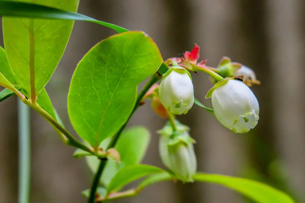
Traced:
<path fill-rule="evenodd" d="M 254 128 L 259 119 L 257 98 L 247 86 L 257 80 L 254 72 L 246 66 L 241 66 L 235 75 L 217 82 L 207 92 L 206 98 L 211 97 L 214 114 L 222 125 L 235 133 L 245 133 Z M 195 100 L 190 73 L 178 65 L 171 67 L 163 75 L 158 94 L 168 116 L 186 114 Z M 177 179 L 192 182 L 197 161 L 189 128 L 176 120 L 169 123 L 159 130 L 161 159 Z"/>

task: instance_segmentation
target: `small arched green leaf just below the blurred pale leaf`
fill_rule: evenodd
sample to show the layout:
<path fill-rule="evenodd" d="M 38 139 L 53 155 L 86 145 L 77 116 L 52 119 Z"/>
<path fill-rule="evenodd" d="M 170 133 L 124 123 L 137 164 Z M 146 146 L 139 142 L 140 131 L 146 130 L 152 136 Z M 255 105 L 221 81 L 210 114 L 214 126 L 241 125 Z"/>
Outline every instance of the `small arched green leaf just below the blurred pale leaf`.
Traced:
<path fill-rule="evenodd" d="M 118 191 L 125 185 L 144 176 L 164 172 L 161 168 L 151 165 L 130 165 L 120 170 L 111 180 L 107 187 L 107 193 Z"/>

